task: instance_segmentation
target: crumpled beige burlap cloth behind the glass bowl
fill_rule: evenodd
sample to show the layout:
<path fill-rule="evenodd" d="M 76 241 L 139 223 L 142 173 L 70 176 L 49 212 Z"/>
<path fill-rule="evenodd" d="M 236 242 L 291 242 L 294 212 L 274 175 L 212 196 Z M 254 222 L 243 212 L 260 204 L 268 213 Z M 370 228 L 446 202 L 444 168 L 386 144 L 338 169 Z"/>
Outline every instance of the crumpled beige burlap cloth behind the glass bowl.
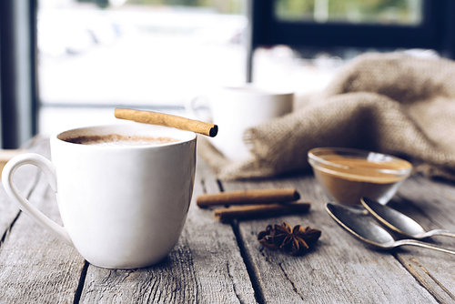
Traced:
<path fill-rule="evenodd" d="M 359 56 L 323 92 L 244 137 L 252 157 L 237 162 L 201 138 L 199 154 L 217 177 L 308 170 L 313 147 L 356 147 L 403 157 L 415 171 L 455 180 L 455 62 L 399 53 Z"/>

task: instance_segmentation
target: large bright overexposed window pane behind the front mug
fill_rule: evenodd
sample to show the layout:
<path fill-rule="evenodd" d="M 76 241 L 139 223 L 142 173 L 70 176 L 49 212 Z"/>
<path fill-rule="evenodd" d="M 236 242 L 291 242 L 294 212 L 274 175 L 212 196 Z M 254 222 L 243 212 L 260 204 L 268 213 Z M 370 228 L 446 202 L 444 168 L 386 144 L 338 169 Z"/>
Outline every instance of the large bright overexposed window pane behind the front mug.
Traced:
<path fill-rule="evenodd" d="M 112 118 L 115 106 L 177 111 L 210 87 L 244 82 L 244 4 L 40 0 L 40 131 Z"/>

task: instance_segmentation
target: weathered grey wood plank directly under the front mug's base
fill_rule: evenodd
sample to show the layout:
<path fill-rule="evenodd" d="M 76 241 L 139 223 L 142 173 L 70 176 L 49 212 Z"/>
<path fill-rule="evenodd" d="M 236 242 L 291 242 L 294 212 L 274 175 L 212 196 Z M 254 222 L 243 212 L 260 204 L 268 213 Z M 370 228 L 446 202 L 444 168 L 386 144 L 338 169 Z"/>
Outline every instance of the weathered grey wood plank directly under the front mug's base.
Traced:
<path fill-rule="evenodd" d="M 216 192 L 217 181 L 202 159 L 187 223 L 176 248 L 147 269 L 89 266 L 81 303 L 254 303 L 254 290 L 230 226 L 197 208 L 195 199 Z"/>

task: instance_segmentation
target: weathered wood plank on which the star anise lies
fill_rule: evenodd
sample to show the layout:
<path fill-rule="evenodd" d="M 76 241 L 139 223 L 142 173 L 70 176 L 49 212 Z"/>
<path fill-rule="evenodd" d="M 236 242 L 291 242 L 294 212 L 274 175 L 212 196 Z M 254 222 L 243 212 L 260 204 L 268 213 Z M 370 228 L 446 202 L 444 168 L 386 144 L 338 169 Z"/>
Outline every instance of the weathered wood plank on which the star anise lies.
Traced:
<path fill-rule="evenodd" d="M 312 203 L 308 214 L 238 222 L 261 302 L 276 303 L 282 299 L 290 303 L 437 302 L 392 254 L 366 247 L 329 218 L 324 210 L 329 197 L 312 176 L 230 181 L 222 185 L 227 191 L 296 187 L 301 199 Z M 291 257 L 261 246 L 258 232 L 268 224 L 282 221 L 322 230 L 317 247 L 305 256 Z"/>

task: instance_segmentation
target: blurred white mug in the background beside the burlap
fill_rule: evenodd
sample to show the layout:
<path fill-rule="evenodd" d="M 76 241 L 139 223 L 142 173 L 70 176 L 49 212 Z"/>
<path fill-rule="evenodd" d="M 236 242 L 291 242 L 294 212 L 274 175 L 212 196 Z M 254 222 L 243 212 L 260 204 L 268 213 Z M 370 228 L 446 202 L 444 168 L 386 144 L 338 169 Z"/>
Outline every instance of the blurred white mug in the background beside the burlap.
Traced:
<path fill-rule="evenodd" d="M 217 137 L 210 142 L 230 160 L 248 157 L 243 134 L 249 127 L 292 111 L 294 93 L 251 84 L 224 86 L 204 96 L 197 96 L 187 106 L 195 117 L 212 120 L 218 126 Z M 206 100 L 203 100 L 206 99 Z M 207 102 L 211 117 L 200 117 L 197 106 Z"/>

